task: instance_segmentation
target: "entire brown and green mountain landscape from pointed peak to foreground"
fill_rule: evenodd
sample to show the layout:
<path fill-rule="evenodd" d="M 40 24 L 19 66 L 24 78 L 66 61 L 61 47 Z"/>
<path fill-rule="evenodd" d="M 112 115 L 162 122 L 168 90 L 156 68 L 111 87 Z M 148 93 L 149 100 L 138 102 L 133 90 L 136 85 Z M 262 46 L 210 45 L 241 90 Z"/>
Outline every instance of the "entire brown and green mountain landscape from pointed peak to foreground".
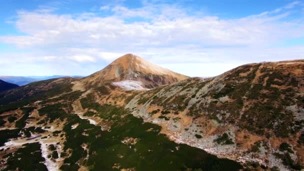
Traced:
<path fill-rule="evenodd" d="M 300 170 L 304 60 L 188 77 L 125 54 L 0 92 L 3 170 Z"/>

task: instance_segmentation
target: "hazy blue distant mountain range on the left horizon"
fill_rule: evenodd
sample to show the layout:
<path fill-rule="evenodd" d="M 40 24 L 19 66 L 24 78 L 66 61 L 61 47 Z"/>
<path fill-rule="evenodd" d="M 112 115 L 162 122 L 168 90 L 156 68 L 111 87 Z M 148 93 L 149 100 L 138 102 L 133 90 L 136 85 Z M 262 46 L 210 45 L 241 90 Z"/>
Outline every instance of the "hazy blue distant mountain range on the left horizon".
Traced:
<path fill-rule="evenodd" d="M 30 82 L 39 81 L 39 80 L 46 80 L 46 79 L 52 79 L 52 78 L 60 78 L 60 77 L 67 77 L 68 75 L 51 75 L 51 76 L 0 76 L 0 79 L 9 82 L 14 83 L 19 86 L 26 85 Z M 69 77 L 83 77 L 79 75 L 72 75 Z"/>

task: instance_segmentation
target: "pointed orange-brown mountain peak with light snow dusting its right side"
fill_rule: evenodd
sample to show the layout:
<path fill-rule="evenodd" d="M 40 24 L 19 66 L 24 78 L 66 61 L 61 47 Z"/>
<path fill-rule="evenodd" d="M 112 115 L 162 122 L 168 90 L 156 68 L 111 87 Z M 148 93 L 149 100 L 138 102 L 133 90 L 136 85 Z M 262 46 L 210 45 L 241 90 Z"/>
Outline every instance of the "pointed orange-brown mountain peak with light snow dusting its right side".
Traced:
<path fill-rule="evenodd" d="M 186 78 L 188 76 L 152 64 L 134 54 L 125 54 L 107 65 L 104 69 L 85 77 L 83 81 L 86 84 L 93 85 L 100 84 L 105 80 L 113 82 L 136 80 L 140 81 L 144 88 L 152 88 Z"/>

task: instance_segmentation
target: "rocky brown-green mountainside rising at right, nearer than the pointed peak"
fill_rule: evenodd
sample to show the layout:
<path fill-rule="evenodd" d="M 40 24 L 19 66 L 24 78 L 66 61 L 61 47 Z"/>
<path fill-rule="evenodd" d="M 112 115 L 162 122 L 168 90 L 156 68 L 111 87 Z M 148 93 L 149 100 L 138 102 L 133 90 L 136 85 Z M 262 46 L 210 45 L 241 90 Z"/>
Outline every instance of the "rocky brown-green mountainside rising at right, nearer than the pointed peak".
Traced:
<path fill-rule="evenodd" d="M 145 91 L 127 107 L 177 142 L 298 169 L 304 163 L 303 87 L 304 60 L 252 63 Z"/>

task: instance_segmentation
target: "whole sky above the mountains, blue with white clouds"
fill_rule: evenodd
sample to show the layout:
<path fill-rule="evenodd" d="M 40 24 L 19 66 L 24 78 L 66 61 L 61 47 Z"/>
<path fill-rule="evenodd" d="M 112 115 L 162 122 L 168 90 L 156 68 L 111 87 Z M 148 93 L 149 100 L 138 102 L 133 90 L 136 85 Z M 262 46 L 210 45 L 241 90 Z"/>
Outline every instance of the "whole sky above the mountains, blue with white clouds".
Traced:
<path fill-rule="evenodd" d="M 190 76 L 304 58 L 302 0 L 9 0 L 0 75 L 88 75 L 134 53 Z"/>

